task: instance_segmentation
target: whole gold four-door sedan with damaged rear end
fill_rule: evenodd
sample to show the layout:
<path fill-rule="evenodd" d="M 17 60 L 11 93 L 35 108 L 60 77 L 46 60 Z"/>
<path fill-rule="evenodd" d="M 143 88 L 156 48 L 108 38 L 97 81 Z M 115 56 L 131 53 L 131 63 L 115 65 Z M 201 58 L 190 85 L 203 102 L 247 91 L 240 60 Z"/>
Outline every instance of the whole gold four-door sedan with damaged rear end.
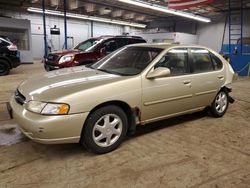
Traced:
<path fill-rule="evenodd" d="M 201 46 L 135 44 L 91 66 L 24 81 L 11 98 L 13 116 L 30 139 L 75 143 L 96 153 L 117 148 L 136 125 L 208 108 L 227 111 L 234 71 Z"/>

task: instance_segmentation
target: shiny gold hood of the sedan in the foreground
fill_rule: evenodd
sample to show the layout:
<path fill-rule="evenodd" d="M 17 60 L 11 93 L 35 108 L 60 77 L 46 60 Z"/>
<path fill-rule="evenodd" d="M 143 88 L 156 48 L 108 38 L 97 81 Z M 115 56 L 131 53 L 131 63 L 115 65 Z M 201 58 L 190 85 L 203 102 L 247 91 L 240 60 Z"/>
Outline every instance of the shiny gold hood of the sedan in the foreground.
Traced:
<path fill-rule="evenodd" d="M 26 100 L 55 102 L 69 94 L 122 79 L 124 76 L 79 66 L 32 77 L 21 83 L 18 90 L 26 97 Z"/>

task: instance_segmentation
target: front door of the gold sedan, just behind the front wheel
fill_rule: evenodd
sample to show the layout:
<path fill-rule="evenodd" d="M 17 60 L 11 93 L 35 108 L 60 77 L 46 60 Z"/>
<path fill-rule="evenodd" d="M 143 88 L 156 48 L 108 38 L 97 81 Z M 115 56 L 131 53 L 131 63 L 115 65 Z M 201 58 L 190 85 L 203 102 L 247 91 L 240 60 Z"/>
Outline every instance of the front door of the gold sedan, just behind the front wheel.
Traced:
<path fill-rule="evenodd" d="M 168 77 L 142 80 L 143 122 L 177 115 L 194 107 L 187 48 L 169 50 L 153 69 L 157 67 L 167 67 L 171 72 Z"/>

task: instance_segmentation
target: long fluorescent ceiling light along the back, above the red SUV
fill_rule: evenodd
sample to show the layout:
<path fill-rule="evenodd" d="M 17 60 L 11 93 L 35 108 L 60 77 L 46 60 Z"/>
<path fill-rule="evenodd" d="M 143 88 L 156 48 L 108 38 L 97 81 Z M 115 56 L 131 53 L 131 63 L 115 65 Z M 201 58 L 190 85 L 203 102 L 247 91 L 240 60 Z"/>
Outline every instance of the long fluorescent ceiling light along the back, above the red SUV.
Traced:
<path fill-rule="evenodd" d="M 34 7 L 29 7 L 27 9 L 27 11 L 28 12 L 40 13 L 40 14 L 43 13 L 42 9 L 34 8 Z M 55 16 L 64 16 L 63 12 L 54 11 L 54 10 L 47 10 L 47 9 L 45 9 L 45 14 L 47 14 L 47 15 L 55 15 Z M 100 17 L 87 16 L 87 15 L 81 15 L 81 14 L 66 13 L 66 16 L 68 18 L 91 20 L 91 21 L 96 21 L 96 22 L 111 23 L 111 24 L 116 24 L 116 25 L 125 25 L 125 26 L 137 27 L 137 28 L 145 28 L 146 27 L 145 24 L 139 24 L 139 23 L 134 23 L 134 22 L 126 22 L 126 21 L 121 21 L 121 20 L 112 20 L 112 19 L 108 19 L 108 18 L 100 18 Z"/>

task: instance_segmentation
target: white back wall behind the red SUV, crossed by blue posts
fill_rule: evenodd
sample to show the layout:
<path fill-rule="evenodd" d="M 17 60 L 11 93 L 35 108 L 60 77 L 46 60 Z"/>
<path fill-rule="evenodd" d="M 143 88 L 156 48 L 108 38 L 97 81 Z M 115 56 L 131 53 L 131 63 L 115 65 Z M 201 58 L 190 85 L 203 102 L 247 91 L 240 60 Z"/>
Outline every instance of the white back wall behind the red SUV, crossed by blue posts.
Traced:
<path fill-rule="evenodd" d="M 0 12 L 1 13 L 1 12 Z M 17 18 L 27 19 L 31 24 L 31 46 L 33 51 L 33 58 L 42 58 L 44 55 L 44 42 L 43 42 L 43 18 L 42 14 L 33 13 L 17 13 L 11 11 L 5 11 L 4 15 Z M 60 28 L 60 35 L 50 35 L 50 28 L 57 26 Z M 127 30 L 127 29 L 126 29 Z M 64 45 L 64 20 L 62 17 L 48 16 L 46 15 L 46 32 L 48 45 L 52 47 L 52 50 L 62 50 Z M 100 35 L 122 35 L 124 32 L 124 26 L 105 24 L 100 22 L 94 22 L 93 24 L 93 36 Z M 130 34 L 134 35 L 138 32 L 137 29 L 130 28 Z M 74 46 L 91 37 L 91 23 L 90 21 L 79 19 L 67 20 L 67 35 L 73 37 Z M 68 47 L 72 47 L 72 41 L 68 39 Z"/>

